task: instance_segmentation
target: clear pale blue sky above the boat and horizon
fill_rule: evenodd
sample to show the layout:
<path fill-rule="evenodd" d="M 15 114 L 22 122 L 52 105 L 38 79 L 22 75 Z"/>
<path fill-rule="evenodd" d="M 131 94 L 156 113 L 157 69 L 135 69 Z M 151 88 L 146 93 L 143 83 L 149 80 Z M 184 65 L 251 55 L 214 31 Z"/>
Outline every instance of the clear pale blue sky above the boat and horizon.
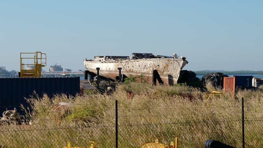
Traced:
<path fill-rule="evenodd" d="M 263 1 L 1 1 L 0 67 L 20 52 L 85 70 L 83 59 L 133 52 L 186 56 L 184 70 L 262 71 Z"/>

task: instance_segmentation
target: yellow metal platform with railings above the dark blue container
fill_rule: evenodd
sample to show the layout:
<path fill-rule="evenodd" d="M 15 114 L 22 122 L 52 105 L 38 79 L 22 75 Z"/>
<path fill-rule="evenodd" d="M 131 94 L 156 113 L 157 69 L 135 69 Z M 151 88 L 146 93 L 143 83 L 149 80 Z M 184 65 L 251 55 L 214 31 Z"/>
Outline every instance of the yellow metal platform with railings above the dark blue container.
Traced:
<path fill-rule="evenodd" d="M 28 57 L 28 56 L 31 56 L 31 57 Z M 27 68 L 25 68 L 25 66 L 27 66 Z M 41 67 L 45 67 L 45 66 L 46 66 L 46 54 L 45 53 L 41 53 L 41 52 L 22 53 L 20 52 L 20 77 L 21 78 L 41 77 Z"/>

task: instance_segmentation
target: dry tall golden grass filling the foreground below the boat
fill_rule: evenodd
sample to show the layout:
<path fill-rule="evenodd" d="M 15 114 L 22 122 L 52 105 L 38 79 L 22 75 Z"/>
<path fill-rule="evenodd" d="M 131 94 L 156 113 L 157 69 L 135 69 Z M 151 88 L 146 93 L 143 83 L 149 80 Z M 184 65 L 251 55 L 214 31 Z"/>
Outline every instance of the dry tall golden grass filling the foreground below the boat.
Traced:
<path fill-rule="evenodd" d="M 115 147 L 115 100 L 118 100 L 118 146 L 139 147 L 146 142 L 169 144 L 178 137 L 178 147 L 203 147 L 207 139 L 218 140 L 234 147 L 242 146 L 241 98 L 245 99 L 246 147 L 263 147 L 263 91 L 244 90 L 236 98 L 224 90 L 204 99 L 204 92 L 189 86 L 152 86 L 120 84 L 110 95 L 92 94 L 67 98 L 57 95 L 31 97 L 32 110 L 27 110 L 33 125 L 2 125 L 1 145 L 6 147 L 88 147 L 89 141 L 100 147 Z M 191 92 L 191 101 L 180 93 Z M 51 112 L 60 102 L 70 104 L 70 113 L 63 117 Z M 26 107 L 25 107 L 26 108 Z"/>

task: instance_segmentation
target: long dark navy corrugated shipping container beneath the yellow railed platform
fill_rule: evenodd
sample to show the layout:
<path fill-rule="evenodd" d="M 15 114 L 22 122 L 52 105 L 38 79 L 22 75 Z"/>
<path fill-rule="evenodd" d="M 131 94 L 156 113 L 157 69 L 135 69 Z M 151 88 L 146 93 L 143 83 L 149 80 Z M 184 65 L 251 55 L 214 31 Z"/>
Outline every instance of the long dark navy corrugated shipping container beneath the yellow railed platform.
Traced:
<path fill-rule="evenodd" d="M 61 78 L 0 78 L 0 113 L 5 110 L 20 111 L 20 104 L 29 106 L 24 98 L 44 94 L 51 99 L 56 94 L 75 97 L 80 92 L 79 77 Z"/>

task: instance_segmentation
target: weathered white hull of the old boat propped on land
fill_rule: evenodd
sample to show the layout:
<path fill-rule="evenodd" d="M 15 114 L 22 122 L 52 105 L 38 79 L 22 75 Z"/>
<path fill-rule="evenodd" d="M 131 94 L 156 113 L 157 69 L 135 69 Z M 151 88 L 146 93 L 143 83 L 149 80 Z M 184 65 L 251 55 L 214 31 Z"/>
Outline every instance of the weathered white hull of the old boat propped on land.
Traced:
<path fill-rule="evenodd" d="M 137 60 L 120 60 L 120 61 L 94 61 L 84 60 L 84 66 L 88 71 L 97 73 L 99 67 L 99 75 L 116 79 L 119 76 L 118 68 L 121 67 L 121 74 L 127 77 L 130 75 L 138 76 L 141 74 L 149 77 L 149 83 L 153 80 L 153 70 L 157 70 L 164 84 L 173 85 L 177 82 L 180 71 L 187 64 L 187 60 L 171 59 L 171 58 L 152 58 Z"/>

